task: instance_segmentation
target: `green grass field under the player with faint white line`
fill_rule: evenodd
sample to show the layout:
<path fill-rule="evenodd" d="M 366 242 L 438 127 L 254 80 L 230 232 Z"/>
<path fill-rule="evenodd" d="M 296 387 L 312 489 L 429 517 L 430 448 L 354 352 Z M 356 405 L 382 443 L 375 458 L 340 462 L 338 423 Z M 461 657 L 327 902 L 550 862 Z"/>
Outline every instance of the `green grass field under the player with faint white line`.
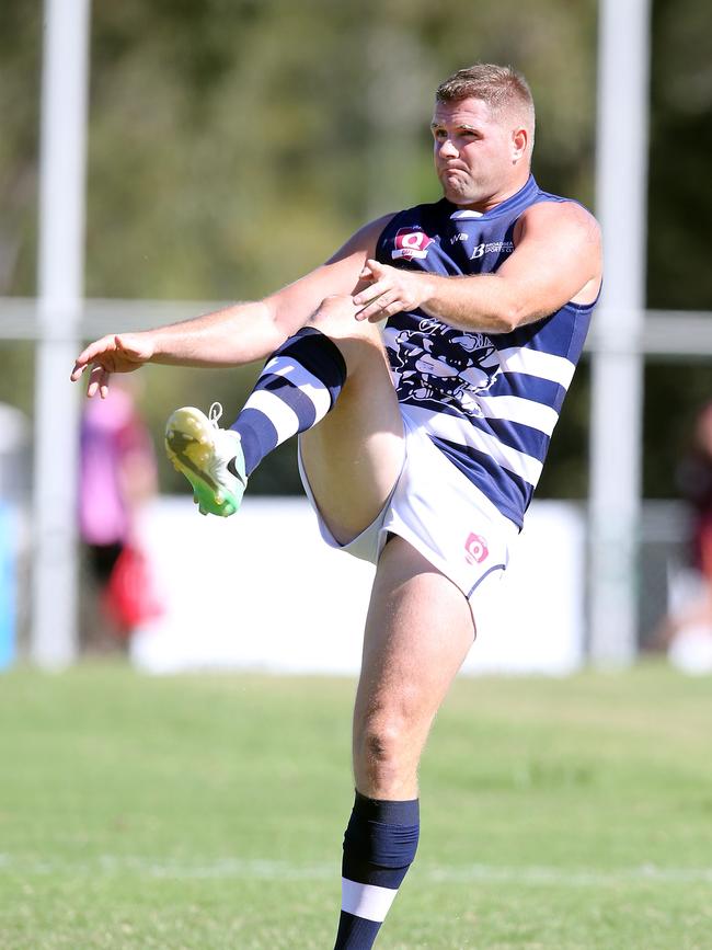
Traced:
<path fill-rule="evenodd" d="M 0 678 L 2 950 L 331 950 L 354 684 Z M 712 948 L 712 680 L 461 679 L 379 948 Z"/>

